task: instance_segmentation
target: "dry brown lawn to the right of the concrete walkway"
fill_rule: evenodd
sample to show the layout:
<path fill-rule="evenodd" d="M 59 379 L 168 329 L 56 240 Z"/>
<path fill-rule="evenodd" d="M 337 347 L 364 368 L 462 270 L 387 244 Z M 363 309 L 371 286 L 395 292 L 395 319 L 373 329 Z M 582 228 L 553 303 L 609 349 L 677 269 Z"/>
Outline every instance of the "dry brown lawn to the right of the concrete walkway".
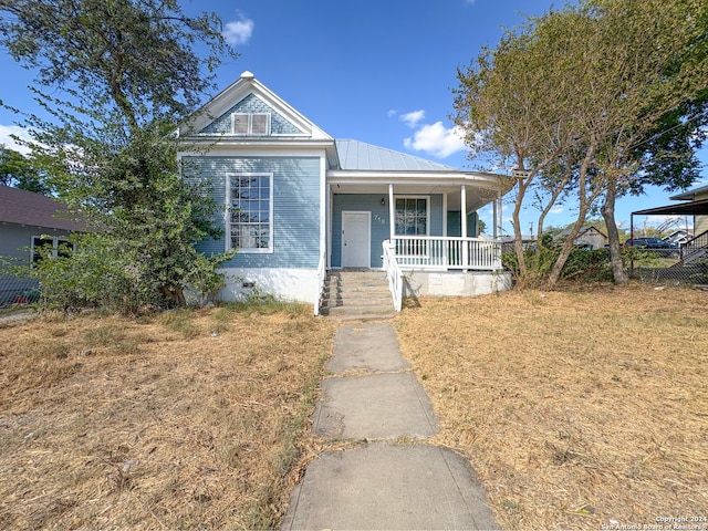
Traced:
<path fill-rule="evenodd" d="M 708 529 L 707 309 L 689 289 L 513 291 L 424 299 L 395 326 L 502 527 Z"/>

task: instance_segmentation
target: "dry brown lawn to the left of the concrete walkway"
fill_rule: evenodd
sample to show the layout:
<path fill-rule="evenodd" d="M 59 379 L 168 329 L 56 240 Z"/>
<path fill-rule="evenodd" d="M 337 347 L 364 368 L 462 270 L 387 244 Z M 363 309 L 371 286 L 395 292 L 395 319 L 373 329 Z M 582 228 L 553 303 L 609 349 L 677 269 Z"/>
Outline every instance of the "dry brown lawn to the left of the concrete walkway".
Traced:
<path fill-rule="evenodd" d="M 0 329 L 0 529 L 277 524 L 332 336 L 295 306 Z"/>

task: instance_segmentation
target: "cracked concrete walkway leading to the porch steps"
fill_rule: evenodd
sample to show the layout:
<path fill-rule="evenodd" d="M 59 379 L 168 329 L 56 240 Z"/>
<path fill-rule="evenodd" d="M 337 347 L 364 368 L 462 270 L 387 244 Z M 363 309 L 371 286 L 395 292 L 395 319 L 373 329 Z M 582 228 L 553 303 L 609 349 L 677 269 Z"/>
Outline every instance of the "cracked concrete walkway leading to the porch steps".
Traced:
<path fill-rule="evenodd" d="M 437 419 L 389 324 L 341 325 L 327 369 L 314 431 L 355 444 L 308 466 L 282 530 L 498 529 L 469 462 L 425 442 Z"/>

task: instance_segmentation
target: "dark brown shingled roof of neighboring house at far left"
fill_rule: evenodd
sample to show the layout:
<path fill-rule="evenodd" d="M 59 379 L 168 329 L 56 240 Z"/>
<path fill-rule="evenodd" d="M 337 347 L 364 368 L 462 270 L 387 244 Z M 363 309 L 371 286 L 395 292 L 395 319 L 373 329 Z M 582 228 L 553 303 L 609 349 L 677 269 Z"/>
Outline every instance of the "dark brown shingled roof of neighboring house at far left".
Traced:
<path fill-rule="evenodd" d="M 0 185 L 0 222 L 48 229 L 83 230 L 70 219 L 66 207 L 51 197 Z"/>

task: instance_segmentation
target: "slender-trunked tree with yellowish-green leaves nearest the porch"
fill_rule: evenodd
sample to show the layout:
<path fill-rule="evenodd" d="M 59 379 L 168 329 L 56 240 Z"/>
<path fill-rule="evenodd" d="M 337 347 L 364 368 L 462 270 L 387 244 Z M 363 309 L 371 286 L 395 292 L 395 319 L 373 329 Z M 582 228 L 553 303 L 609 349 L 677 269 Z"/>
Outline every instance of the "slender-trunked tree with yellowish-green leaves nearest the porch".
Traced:
<path fill-rule="evenodd" d="M 586 25 L 582 12 L 568 18 L 551 12 L 529 20 L 518 32 L 507 31 L 496 49 L 482 49 L 468 69 L 458 71 L 455 121 L 467 132 L 471 156 L 488 153 L 497 165 L 516 168 L 512 225 L 522 283 L 538 282 L 546 274 L 545 267 L 527 266 L 522 248 L 520 212 L 528 194 L 534 187 L 554 188 L 558 192 L 551 198 L 556 200 L 571 178 L 564 168 L 570 168 L 577 184 L 581 216 L 596 195 L 586 187 L 595 144 L 580 146 L 583 94 L 574 82 L 589 76 L 579 44 Z M 542 225 L 538 243 L 542 246 Z"/>

